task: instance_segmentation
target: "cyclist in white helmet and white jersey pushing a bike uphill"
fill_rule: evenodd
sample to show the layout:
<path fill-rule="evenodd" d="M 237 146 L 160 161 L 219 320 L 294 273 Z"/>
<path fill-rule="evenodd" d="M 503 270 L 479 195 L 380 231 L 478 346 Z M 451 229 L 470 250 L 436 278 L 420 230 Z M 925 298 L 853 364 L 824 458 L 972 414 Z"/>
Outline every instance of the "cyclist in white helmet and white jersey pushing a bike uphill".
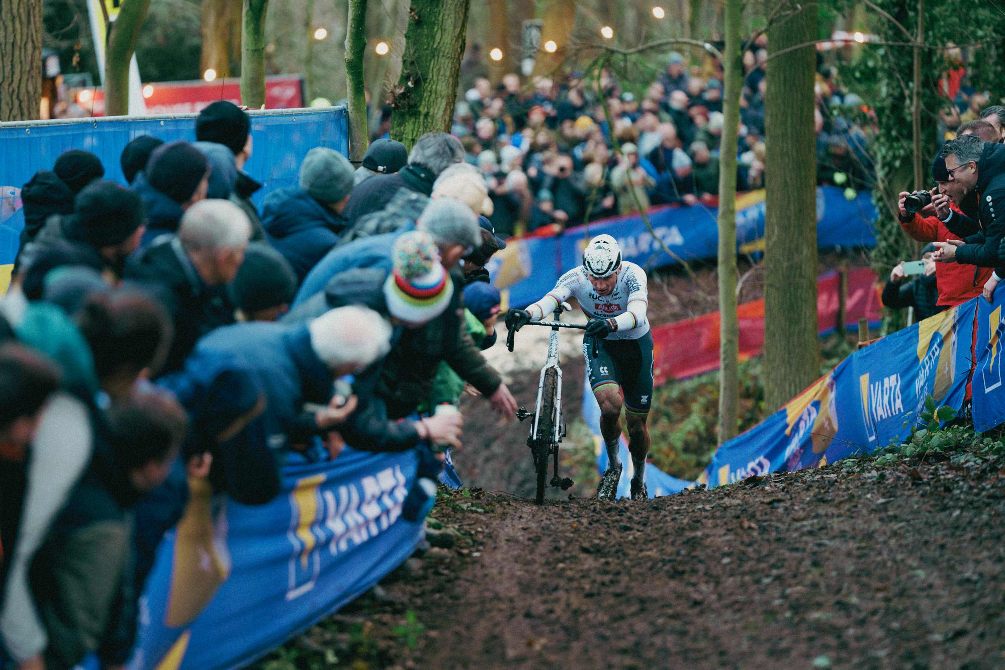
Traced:
<path fill-rule="evenodd" d="M 607 446 L 609 464 L 597 497 L 613 500 L 621 478 L 619 438 L 621 408 L 628 424 L 628 451 L 635 474 L 631 480 L 633 500 L 647 497 L 645 458 L 649 453 L 646 417 L 652 397 L 652 336 L 645 316 L 648 306 L 645 272 L 635 263 L 621 260 L 621 249 L 610 235 L 590 240 L 583 252 L 583 265 L 562 275 L 555 288 L 527 309 L 511 309 L 506 322 L 520 329 L 532 320 L 542 320 L 569 297 L 575 297 L 590 317 L 583 339 L 583 353 L 590 370 L 590 385 L 600 405 L 600 432 Z M 592 338 L 600 339 L 599 356 L 591 355 Z"/>

